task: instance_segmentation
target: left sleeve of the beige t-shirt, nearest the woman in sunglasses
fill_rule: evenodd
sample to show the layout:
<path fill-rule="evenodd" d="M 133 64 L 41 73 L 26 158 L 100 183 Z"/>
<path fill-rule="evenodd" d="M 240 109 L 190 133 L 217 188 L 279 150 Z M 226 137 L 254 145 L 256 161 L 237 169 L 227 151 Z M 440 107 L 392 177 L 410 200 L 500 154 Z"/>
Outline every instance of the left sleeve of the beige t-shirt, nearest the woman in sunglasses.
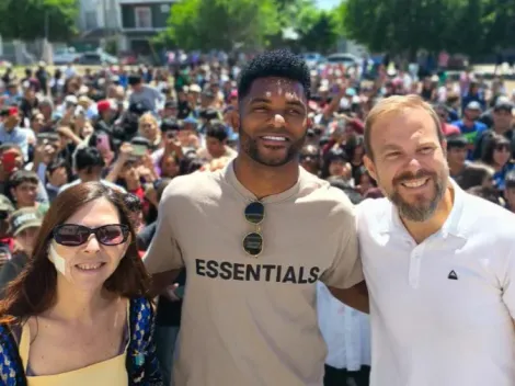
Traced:
<path fill-rule="evenodd" d="M 173 207 L 178 207 L 174 195 L 174 184 L 171 183 L 164 190 L 159 203 L 156 234 L 150 247 L 145 253 L 144 263 L 149 273 L 160 273 L 178 270 L 184 266 L 181 247 L 173 232 Z M 181 203 L 179 203 L 181 204 Z"/>

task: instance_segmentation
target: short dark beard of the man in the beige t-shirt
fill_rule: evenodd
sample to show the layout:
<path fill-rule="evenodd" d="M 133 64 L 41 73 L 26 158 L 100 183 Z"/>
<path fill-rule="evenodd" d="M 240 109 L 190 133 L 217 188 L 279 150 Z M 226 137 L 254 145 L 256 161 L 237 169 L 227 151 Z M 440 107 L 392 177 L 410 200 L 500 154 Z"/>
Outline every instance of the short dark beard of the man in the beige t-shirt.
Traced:
<path fill-rule="evenodd" d="M 283 132 L 285 130 L 283 129 Z M 296 139 L 291 143 L 287 143 L 287 145 L 289 146 L 286 148 L 286 154 L 283 157 L 272 158 L 272 157 L 266 157 L 261 154 L 259 145 L 258 145 L 258 139 L 254 139 L 249 134 L 247 134 L 243 127 L 240 127 L 239 133 L 240 133 L 240 151 L 244 151 L 250 158 L 252 158 L 258 163 L 261 163 L 265 167 L 274 167 L 274 168 L 282 167 L 290 162 L 294 159 L 298 159 L 300 150 L 302 149 L 305 140 L 306 140 L 306 133 L 305 133 L 305 135 L 301 138 Z"/>

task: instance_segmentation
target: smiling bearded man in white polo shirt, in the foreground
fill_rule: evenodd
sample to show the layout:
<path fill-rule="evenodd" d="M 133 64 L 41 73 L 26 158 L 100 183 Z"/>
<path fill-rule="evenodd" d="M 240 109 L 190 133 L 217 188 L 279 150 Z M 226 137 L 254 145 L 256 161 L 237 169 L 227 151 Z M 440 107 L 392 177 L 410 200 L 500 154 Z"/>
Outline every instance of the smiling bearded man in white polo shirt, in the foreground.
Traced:
<path fill-rule="evenodd" d="M 358 206 L 373 386 L 515 385 L 515 216 L 449 179 L 438 116 L 380 101 L 365 164 L 387 198 Z"/>

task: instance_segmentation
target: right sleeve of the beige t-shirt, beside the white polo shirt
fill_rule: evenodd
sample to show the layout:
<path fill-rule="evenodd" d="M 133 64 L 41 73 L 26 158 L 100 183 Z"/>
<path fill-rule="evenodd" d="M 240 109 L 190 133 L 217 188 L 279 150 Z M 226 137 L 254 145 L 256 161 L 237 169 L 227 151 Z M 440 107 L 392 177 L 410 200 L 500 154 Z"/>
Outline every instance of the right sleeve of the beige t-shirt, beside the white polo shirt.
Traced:
<path fill-rule="evenodd" d="M 340 236 L 340 247 L 334 258 L 333 264 L 322 274 L 321 281 L 330 287 L 350 288 L 363 282 L 362 260 L 359 258 L 359 243 L 357 239 L 356 213 L 348 201 L 342 203 L 342 234 Z"/>

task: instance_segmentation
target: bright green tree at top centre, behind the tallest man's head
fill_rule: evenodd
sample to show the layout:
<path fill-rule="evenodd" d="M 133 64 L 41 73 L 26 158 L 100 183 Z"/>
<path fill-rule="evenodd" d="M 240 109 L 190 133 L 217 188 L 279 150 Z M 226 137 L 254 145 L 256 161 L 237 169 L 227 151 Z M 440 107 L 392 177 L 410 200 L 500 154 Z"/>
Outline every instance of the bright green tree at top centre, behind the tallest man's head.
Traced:
<path fill-rule="evenodd" d="M 281 30 L 273 0 L 182 0 L 161 37 L 183 49 L 258 48 Z"/>

